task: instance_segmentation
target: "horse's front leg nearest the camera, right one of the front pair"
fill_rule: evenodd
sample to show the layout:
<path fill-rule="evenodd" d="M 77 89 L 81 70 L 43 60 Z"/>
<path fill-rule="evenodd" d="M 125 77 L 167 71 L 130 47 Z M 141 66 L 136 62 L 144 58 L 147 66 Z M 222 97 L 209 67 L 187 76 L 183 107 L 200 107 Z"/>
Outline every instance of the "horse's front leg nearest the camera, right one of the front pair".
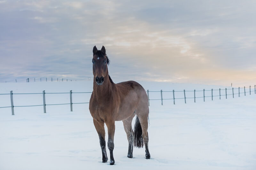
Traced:
<path fill-rule="evenodd" d="M 114 156 L 113 156 L 113 150 L 114 150 L 114 135 L 115 135 L 115 121 L 106 122 L 106 125 L 108 127 L 108 149 L 110 153 L 110 165 L 115 164 Z"/>

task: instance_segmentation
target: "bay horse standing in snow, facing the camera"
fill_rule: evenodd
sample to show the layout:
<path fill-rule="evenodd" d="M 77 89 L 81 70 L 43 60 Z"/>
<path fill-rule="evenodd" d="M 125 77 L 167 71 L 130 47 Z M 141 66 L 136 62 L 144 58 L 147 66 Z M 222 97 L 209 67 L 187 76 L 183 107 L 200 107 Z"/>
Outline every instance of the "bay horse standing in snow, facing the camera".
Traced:
<path fill-rule="evenodd" d="M 105 142 L 104 123 L 108 128 L 108 149 L 110 152 L 110 165 L 115 164 L 114 134 L 115 121 L 123 121 L 124 130 L 128 139 L 128 158 L 132 158 L 133 143 L 135 147 L 145 144 L 146 159 L 150 159 L 148 151 L 148 96 L 145 89 L 136 81 L 124 81 L 115 84 L 108 75 L 109 59 L 105 47 L 98 50 L 93 47 L 92 71 L 93 91 L 89 110 L 93 124 L 100 139 L 102 162 L 108 161 Z M 134 132 L 132 119 L 136 116 Z"/>

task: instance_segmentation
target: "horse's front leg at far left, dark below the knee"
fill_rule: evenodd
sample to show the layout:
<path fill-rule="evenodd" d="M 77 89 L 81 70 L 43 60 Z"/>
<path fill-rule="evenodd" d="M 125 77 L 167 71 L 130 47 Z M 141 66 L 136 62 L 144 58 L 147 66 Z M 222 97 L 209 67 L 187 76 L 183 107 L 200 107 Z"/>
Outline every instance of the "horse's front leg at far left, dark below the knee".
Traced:
<path fill-rule="evenodd" d="M 97 130 L 100 139 L 100 148 L 102 152 L 102 162 L 106 163 L 108 161 L 107 151 L 106 151 L 106 141 L 105 141 L 105 128 L 104 122 L 99 122 L 93 119 L 93 124 Z"/>

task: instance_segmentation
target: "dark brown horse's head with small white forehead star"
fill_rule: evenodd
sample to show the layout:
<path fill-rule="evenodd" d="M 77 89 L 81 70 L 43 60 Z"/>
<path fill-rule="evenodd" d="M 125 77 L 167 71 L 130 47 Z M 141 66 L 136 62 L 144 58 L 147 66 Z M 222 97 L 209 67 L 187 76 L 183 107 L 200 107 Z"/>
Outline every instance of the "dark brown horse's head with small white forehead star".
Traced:
<path fill-rule="evenodd" d="M 105 47 L 102 46 L 101 50 L 98 50 L 96 46 L 93 47 L 92 58 L 92 72 L 94 79 L 98 85 L 102 85 L 104 78 L 108 76 L 108 64 L 109 59 L 106 55 Z"/>

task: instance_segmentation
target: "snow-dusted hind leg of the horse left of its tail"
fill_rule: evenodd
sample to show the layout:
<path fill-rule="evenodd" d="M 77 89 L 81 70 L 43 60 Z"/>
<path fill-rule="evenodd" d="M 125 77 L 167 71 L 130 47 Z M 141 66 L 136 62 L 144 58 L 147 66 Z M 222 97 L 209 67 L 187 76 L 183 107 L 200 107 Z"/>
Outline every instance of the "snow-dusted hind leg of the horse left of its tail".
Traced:
<path fill-rule="evenodd" d="M 128 154 L 127 154 L 128 158 L 132 158 L 133 143 L 134 143 L 134 133 L 132 130 L 132 119 L 134 116 L 135 116 L 135 114 L 133 113 L 129 118 L 123 120 L 124 130 L 126 132 L 128 143 L 129 143 Z"/>

